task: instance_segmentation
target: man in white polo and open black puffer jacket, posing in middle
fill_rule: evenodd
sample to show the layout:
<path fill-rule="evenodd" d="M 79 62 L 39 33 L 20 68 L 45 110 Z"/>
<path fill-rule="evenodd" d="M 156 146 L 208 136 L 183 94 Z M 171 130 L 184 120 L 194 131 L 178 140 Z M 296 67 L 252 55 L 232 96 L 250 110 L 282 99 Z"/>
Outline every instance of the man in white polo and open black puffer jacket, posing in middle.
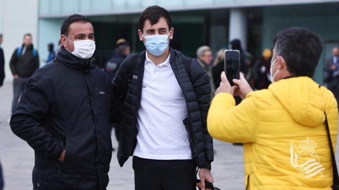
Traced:
<path fill-rule="evenodd" d="M 197 59 L 169 48 L 173 31 L 166 9 L 145 9 L 138 33 L 147 50 L 129 55 L 113 79 L 123 100 L 117 157 L 123 166 L 134 156 L 136 190 L 195 190 L 197 166 L 198 186 L 213 182 L 209 77 Z"/>

